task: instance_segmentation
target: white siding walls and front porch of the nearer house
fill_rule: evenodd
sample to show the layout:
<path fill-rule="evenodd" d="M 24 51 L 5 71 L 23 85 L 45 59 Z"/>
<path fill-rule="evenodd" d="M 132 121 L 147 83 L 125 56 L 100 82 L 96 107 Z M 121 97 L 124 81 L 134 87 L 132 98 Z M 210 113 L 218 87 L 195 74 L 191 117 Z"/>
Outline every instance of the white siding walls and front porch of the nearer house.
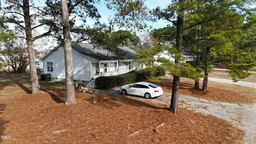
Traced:
<path fill-rule="evenodd" d="M 91 78 L 95 79 L 99 76 L 120 75 L 135 70 L 136 68 L 145 68 L 145 65 L 138 66 L 138 62 L 132 62 L 133 60 L 98 60 L 98 55 L 90 55 L 88 54 L 90 51 L 83 53 L 84 51 L 80 52 L 80 50 L 83 49 L 72 48 L 74 82 L 83 80 L 84 83 L 86 83 L 90 81 Z M 54 48 L 54 50 L 44 56 L 42 60 L 44 61 L 44 74 L 50 74 L 51 80 L 57 78 L 57 81 L 65 82 L 66 72 L 63 47 Z M 53 63 L 53 72 L 47 71 L 47 62 Z M 98 74 L 96 74 L 97 65 L 99 65 Z"/>

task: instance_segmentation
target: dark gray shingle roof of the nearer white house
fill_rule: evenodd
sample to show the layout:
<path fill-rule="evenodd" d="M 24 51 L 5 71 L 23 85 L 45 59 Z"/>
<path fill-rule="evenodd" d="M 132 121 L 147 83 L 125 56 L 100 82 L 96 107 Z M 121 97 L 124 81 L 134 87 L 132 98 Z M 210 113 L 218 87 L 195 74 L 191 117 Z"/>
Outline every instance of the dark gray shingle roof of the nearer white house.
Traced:
<path fill-rule="evenodd" d="M 47 56 L 49 56 L 54 50 L 59 48 L 57 46 L 54 48 L 52 51 L 50 51 L 48 54 L 40 58 L 40 60 L 43 60 Z M 104 50 L 102 48 L 95 48 L 93 44 L 84 44 L 84 43 L 79 43 L 79 44 L 72 44 L 72 48 L 79 52 L 80 54 L 83 54 L 85 56 L 88 56 L 90 58 L 93 58 L 95 60 L 117 60 L 116 56 L 112 54 L 111 52 L 108 52 L 108 50 Z M 126 56 L 123 58 L 123 60 L 131 60 L 132 59 L 132 54 L 136 53 L 134 50 L 123 46 L 119 47 L 123 52 L 127 52 Z"/>

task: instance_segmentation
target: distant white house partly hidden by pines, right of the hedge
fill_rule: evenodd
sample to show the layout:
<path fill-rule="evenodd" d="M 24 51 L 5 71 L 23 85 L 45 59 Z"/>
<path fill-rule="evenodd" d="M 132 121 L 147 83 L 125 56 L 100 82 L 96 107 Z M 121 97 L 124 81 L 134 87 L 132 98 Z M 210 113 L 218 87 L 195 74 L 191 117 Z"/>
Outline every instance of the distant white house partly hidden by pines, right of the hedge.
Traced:
<path fill-rule="evenodd" d="M 186 62 L 186 61 L 194 61 L 196 60 L 196 55 L 194 54 L 189 54 L 187 52 L 182 51 L 182 60 L 181 62 Z M 158 60 L 158 58 L 167 58 L 171 62 L 174 62 L 174 58 L 172 57 L 172 54 L 170 54 L 167 50 L 164 50 L 160 52 L 158 55 L 153 56 L 155 60 Z M 162 62 L 154 62 L 155 65 L 162 65 Z"/>

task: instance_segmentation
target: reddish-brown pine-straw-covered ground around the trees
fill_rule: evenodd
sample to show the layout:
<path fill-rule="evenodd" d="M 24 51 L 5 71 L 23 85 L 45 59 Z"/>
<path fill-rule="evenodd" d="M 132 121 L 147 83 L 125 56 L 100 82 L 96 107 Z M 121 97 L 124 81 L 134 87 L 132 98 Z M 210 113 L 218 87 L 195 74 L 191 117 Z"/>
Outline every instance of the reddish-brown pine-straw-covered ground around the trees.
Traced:
<path fill-rule="evenodd" d="M 159 79 L 161 83 L 156 84 L 170 92 L 172 78 L 161 76 Z M 256 82 L 256 75 L 252 74 L 249 79 Z M 184 108 L 173 114 L 168 110 L 169 105 L 100 92 L 82 93 L 78 89 L 77 104 L 66 106 L 64 83 L 40 81 L 40 86 L 43 92 L 32 95 L 29 94 L 29 74 L 1 74 L 1 144 L 244 142 L 244 131 L 232 122 L 214 116 Z M 181 78 L 179 93 L 229 103 L 256 102 L 253 88 L 208 82 L 208 92 L 205 93 L 193 87 L 193 80 Z"/>

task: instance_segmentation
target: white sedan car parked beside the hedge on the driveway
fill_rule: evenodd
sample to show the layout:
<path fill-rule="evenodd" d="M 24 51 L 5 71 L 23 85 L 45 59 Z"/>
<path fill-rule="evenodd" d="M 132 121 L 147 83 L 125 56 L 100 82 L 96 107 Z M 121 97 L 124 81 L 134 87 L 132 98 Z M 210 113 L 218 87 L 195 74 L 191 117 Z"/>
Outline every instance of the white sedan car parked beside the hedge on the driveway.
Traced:
<path fill-rule="evenodd" d="M 135 84 L 124 85 L 120 87 L 119 92 L 122 94 L 144 96 L 145 98 L 154 98 L 164 93 L 160 86 L 149 82 L 137 82 Z"/>

